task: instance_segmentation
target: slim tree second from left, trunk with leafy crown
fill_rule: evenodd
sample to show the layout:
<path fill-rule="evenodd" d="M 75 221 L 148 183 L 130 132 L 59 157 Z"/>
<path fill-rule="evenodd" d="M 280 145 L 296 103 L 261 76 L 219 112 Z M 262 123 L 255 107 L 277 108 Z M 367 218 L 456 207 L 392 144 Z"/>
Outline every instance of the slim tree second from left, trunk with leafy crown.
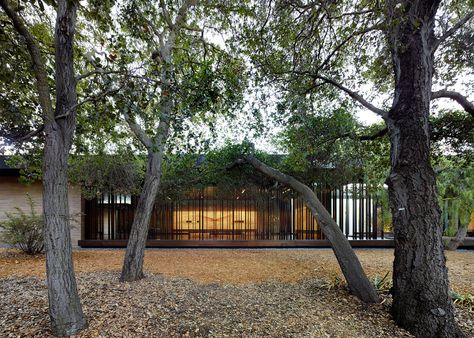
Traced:
<path fill-rule="evenodd" d="M 209 15 L 204 11 L 216 12 L 220 6 L 209 2 L 197 8 L 196 3 L 185 0 L 171 6 L 160 1 L 149 8 L 147 2 L 131 1 L 123 8 L 123 28 L 135 39 L 137 50 L 144 48 L 148 54 L 143 59 L 142 73 L 126 79 L 125 91 L 117 99 L 118 111 L 146 149 L 148 161 L 121 281 L 144 277 L 148 226 L 170 134 L 183 132 L 186 119 L 189 122 L 199 115 L 205 119 L 208 114 L 223 114 L 241 100 L 240 61 L 206 41 L 204 29 L 199 27 Z M 137 32 L 137 26 L 144 27 L 143 31 Z"/>

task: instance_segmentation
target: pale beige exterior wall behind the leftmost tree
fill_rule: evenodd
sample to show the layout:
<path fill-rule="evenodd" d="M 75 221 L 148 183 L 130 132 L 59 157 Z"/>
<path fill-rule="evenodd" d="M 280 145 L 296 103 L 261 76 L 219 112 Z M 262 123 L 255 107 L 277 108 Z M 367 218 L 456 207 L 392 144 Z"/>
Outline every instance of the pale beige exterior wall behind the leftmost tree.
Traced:
<path fill-rule="evenodd" d="M 25 212 L 28 212 L 27 193 L 33 198 L 36 204 L 36 211 L 41 213 L 43 208 L 43 187 L 41 182 L 26 185 L 18 182 L 18 177 L 0 176 L 0 220 L 5 220 L 5 212 L 15 212 L 15 207 L 19 207 Z M 73 216 L 71 220 L 71 240 L 73 247 L 77 247 L 78 241 L 81 239 L 81 203 L 80 187 L 70 185 L 69 210 Z"/>

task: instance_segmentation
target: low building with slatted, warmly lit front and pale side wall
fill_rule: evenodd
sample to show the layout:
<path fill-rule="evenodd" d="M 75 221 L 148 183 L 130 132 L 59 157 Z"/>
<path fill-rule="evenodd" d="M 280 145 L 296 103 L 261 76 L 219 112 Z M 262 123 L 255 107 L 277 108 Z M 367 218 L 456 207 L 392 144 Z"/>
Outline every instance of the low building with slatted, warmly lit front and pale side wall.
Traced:
<path fill-rule="evenodd" d="M 0 158 L 0 220 L 14 207 L 27 210 L 30 194 L 42 207 L 40 182 L 19 182 L 19 170 Z M 340 189 L 314 187 L 318 198 L 353 246 L 392 246 L 391 233 L 380 224 L 381 208 L 363 184 Z M 124 247 L 133 222 L 137 196 L 104 193 L 86 200 L 70 185 L 73 246 Z M 471 224 L 474 230 L 474 224 Z M 157 199 L 148 233 L 156 247 L 315 247 L 328 246 L 302 199 L 286 187 L 251 185 L 220 191 L 190 189 L 185 197 Z"/>

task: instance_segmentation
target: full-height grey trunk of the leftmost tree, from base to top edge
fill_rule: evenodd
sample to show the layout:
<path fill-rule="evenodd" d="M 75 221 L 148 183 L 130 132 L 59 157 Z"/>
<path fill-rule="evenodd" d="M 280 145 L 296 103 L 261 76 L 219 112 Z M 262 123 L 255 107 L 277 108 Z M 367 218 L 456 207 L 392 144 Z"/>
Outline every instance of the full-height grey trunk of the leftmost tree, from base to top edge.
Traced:
<path fill-rule="evenodd" d="M 58 1 L 55 32 L 56 111 L 54 116 L 47 112 L 45 116 L 43 164 L 49 314 L 53 332 L 58 336 L 74 335 L 87 326 L 74 275 L 68 206 L 67 160 L 76 126 L 73 70 L 75 21 L 75 5 Z"/>

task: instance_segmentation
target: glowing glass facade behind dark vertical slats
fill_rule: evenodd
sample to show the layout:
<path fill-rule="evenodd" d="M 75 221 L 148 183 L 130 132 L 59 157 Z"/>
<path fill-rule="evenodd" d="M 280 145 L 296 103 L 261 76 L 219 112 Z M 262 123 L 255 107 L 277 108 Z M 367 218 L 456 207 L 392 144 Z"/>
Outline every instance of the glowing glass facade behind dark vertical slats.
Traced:
<path fill-rule="evenodd" d="M 315 191 L 341 230 L 351 239 L 381 236 L 377 203 L 364 186 Z M 127 239 L 138 198 L 104 194 L 86 201 L 85 239 Z M 383 235 L 383 234 L 382 234 Z M 192 190 L 185 198 L 164 197 L 155 204 L 152 240 L 317 240 L 324 236 L 305 203 L 288 188 L 247 187 Z"/>

